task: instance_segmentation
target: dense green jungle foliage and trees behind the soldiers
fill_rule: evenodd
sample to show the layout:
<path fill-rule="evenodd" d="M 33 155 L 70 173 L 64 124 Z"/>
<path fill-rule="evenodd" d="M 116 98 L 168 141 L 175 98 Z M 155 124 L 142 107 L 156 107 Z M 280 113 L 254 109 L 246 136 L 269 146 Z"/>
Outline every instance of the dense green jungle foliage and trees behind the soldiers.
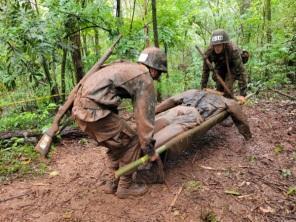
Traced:
<path fill-rule="evenodd" d="M 154 2 L 154 1 L 152 1 Z M 251 53 L 249 87 L 282 87 L 296 66 L 293 0 L 156 1 L 157 44 L 169 57 L 162 97 L 199 88 L 211 32 L 224 28 Z M 149 0 L 0 2 L 0 130 L 44 128 L 58 104 L 121 33 L 108 62 L 135 61 L 156 43 Z M 20 115 L 22 114 L 22 115 Z"/>

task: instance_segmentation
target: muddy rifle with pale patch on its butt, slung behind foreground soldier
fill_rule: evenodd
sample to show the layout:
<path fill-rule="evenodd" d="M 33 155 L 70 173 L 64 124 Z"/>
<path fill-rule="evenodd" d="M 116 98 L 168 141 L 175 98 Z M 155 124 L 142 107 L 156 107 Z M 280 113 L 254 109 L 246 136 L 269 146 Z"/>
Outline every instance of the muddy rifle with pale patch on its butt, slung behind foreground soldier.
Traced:
<path fill-rule="evenodd" d="M 105 61 L 110 57 L 112 54 L 116 44 L 121 39 L 122 35 L 116 39 L 116 41 L 112 44 L 112 46 L 107 50 L 107 52 L 100 58 L 100 60 L 84 75 L 84 77 L 79 81 L 79 83 L 72 89 L 70 95 L 68 96 L 66 102 L 59 108 L 57 114 L 54 117 L 53 123 L 51 127 L 46 131 L 46 133 L 41 137 L 35 149 L 41 153 L 43 156 L 46 156 L 50 150 L 50 146 L 52 143 L 52 138 L 56 135 L 59 131 L 59 123 L 65 113 L 72 107 L 74 98 L 76 93 L 81 86 L 81 84 L 85 81 L 86 78 L 91 76 L 93 73 L 98 71 L 101 66 L 105 63 Z"/>

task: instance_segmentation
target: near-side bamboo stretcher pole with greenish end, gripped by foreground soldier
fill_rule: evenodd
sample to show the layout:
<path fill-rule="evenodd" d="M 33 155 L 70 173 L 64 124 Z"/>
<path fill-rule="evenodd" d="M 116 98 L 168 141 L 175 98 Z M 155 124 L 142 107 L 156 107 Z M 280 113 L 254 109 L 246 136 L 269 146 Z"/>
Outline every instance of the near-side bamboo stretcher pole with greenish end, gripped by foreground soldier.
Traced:
<path fill-rule="evenodd" d="M 156 149 L 156 153 L 161 154 L 164 151 L 171 149 L 176 144 L 182 143 L 184 141 L 190 140 L 192 137 L 203 135 L 206 131 L 208 131 L 210 128 L 215 126 L 217 123 L 220 123 L 223 121 L 229 113 L 225 110 L 221 113 L 218 113 L 207 120 L 205 120 L 200 125 L 196 126 L 193 129 L 190 129 L 186 132 L 181 133 L 180 135 L 174 137 L 170 141 L 168 141 L 166 144 L 160 146 Z M 115 177 L 118 178 L 120 176 L 126 175 L 128 173 L 132 173 L 138 169 L 139 166 L 146 164 L 149 161 L 149 156 L 145 155 L 141 157 L 138 160 L 135 160 L 121 168 L 119 168 L 117 171 L 115 171 Z"/>

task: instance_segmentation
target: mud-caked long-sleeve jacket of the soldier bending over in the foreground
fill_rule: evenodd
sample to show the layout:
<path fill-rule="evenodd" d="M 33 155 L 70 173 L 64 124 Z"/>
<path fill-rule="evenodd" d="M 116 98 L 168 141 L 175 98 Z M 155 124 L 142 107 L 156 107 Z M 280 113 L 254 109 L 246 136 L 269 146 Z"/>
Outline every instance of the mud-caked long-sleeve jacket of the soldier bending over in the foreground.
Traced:
<path fill-rule="evenodd" d="M 98 121 L 116 112 L 122 98 L 133 102 L 139 141 L 145 147 L 153 137 L 156 95 L 149 70 L 142 64 L 113 63 L 91 75 L 78 90 L 72 114 L 86 122 Z"/>

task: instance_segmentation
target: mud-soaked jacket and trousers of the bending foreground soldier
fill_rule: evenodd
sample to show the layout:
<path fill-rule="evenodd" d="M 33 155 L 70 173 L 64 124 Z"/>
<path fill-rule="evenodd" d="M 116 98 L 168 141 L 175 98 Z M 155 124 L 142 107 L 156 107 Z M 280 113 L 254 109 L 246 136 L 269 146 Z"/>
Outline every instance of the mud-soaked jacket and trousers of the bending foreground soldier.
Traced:
<path fill-rule="evenodd" d="M 118 115 L 122 98 L 131 98 L 137 132 Z M 139 158 L 153 141 L 155 118 L 153 79 L 145 65 L 118 62 L 91 75 L 79 88 L 72 115 L 79 127 L 108 148 L 113 170 Z M 131 175 L 119 186 L 128 187 Z"/>

